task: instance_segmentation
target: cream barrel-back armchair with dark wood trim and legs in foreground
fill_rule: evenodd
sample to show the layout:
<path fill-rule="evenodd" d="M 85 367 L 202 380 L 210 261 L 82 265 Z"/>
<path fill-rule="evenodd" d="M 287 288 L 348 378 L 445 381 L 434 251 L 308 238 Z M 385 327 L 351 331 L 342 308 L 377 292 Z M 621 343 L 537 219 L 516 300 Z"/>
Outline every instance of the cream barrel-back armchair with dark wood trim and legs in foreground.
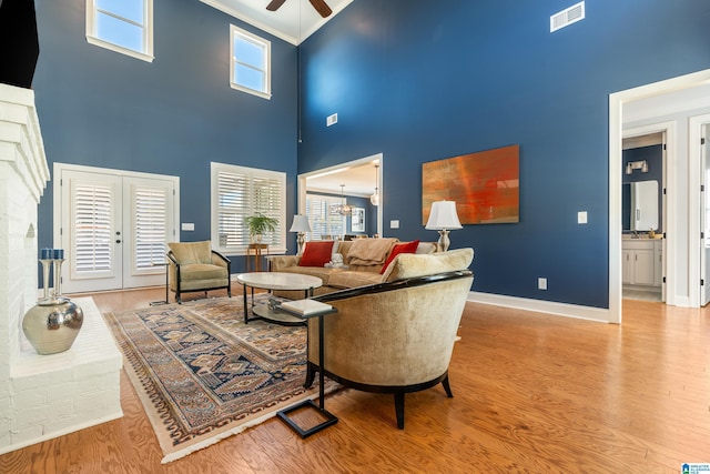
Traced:
<path fill-rule="evenodd" d="M 337 309 L 323 316 L 324 374 L 365 392 L 390 393 L 404 428 L 404 396 L 444 385 L 452 397 L 448 364 L 474 281 L 473 249 L 399 254 L 385 282 L 316 296 Z M 305 386 L 318 363 L 318 321 L 308 320 Z"/>

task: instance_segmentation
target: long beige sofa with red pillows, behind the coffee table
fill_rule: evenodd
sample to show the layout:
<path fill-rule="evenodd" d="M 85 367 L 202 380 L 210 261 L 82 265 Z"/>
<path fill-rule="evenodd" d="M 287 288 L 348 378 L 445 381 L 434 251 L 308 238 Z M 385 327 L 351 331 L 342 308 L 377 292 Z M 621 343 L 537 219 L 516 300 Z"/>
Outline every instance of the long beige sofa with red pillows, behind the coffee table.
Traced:
<path fill-rule="evenodd" d="M 317 241 L 316 241 L 317 242 Z M 342 268 L 332 266 L 301 266 L 302 255 L 275 255 L 270 256 L 270 270 L 272 272 L 298 273 L 317 276 L 323 281 L 323 286 L 314 291 L 315 295 L 327 294 L 334 291 L 364 286 L 385 281 L 383 265 L 395 249 L 403 243 L 397 239 L 356 239 L 353 241 L 335 241 L 332 254 L 343 258 Z M 308 243 L 306 243 L 307 250 Z M 417 254 L 432 254 L 437 250 L 434 242 L 419 242 Z M 274 292 L 276 296 L 301 299 L 303 292 Z"/>

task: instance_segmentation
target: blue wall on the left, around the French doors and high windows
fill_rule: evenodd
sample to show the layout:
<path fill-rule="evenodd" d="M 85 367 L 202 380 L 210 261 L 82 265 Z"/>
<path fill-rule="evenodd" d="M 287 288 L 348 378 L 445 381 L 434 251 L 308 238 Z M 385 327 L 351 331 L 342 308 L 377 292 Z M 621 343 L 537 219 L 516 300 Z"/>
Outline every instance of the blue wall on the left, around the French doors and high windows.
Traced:
<path fill-rule="evenodd" d="M 195 224 L 183 241 L 210 239 L 211 161 L 286 172 L 293 215 L 296 48 L 197 0 L 155 0 L 149 63 L 89 44 L 85 3 L 37 2 L 33 89 L 50 170 L 62 162 L 180 177 L 181 220 Z M 230 24 L 272 42 L 271 100 L 230 87 Z M 53 184 L 39 208 L 40 248 L 52 246 Z M 295 236 L 288 246 L 295 252 Z"/>

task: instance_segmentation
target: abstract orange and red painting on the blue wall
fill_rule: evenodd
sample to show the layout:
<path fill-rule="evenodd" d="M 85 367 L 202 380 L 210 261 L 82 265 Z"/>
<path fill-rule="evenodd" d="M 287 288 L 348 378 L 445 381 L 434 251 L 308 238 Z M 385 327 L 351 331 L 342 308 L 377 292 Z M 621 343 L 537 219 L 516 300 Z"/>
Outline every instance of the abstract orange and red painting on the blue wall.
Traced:
<path fill-rule="evenodd" d="M 462 224 L 520 221 L 519 145 L 422 164 L 422 222 L 434 201 L 456 202 Z"/>

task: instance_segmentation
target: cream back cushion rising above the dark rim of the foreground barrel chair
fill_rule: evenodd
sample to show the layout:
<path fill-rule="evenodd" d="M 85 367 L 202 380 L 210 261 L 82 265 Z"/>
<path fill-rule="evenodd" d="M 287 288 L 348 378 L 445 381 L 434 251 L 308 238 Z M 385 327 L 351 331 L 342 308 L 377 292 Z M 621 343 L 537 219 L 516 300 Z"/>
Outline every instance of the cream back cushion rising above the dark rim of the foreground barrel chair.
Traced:
<path fill-rule="evenodd" d="M 474 249 L 457 249 L 430 255 L 403 253 L 385 270 L 383 281 L 394 282 L 416 276 L 466 270 L 473 260 Z"/>

